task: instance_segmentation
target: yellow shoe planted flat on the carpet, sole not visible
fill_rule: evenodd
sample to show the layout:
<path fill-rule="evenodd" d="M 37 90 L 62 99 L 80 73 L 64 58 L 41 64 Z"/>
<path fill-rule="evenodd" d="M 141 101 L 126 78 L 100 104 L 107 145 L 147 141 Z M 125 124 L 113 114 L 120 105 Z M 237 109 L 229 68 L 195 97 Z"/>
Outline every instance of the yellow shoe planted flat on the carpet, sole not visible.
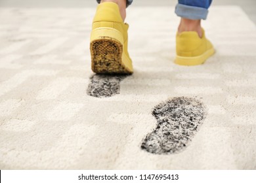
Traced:
<path fill-rule="evenodd" d="M 203 30 L 202 38 L 194 31 L 177 33 L 176 59 L 179 65 L 200 65 L 215 53 L 213 44 L 205 38 Z"/>

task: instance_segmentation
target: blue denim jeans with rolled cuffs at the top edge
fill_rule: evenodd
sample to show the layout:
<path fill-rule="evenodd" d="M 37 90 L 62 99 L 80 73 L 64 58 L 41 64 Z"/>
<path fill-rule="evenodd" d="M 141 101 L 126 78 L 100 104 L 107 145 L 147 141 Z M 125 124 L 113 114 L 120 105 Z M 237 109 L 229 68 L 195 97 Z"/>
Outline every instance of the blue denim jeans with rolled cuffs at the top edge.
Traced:
<path fill-rule="evenodd" d="M 100 0 L 96 0 L 100 3 Z M 208 14 L 208 8 L 212 0 L 179 0 L 175 8 L 177 16 L 191 20 L 205 20 Z M 127 0 L 127 7 L 133 3 L 133 0 Z"/>

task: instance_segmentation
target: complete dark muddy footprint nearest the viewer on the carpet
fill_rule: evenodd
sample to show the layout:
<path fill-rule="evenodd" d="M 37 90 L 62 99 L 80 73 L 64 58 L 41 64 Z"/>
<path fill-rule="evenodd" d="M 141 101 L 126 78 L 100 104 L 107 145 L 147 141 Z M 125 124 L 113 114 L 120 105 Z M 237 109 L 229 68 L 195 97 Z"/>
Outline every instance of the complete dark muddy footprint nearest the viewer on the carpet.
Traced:
<path fill-rule="evenodd" d="M 141 148 L 152 154 L 174 154 L 188 146 L 206 112 L 204 105 L 190 97 L 175 97 L 154 107 L 156 129 L 146 135 Z"/>

